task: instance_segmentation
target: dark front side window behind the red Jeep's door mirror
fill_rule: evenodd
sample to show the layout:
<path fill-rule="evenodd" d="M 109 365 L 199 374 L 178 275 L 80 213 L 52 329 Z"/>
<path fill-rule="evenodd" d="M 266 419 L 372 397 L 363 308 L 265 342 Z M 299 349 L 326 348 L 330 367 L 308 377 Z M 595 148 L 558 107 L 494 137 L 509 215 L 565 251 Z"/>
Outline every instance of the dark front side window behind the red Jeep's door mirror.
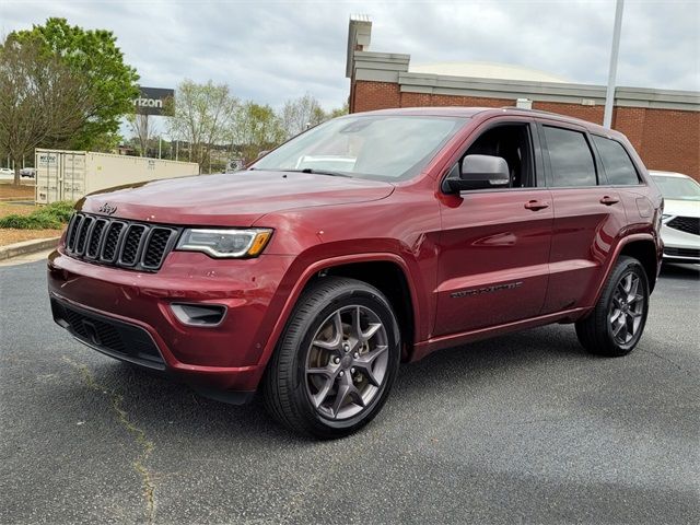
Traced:
<path fill-rule="evenodd" d="M 485 131 L 469 147 L 464 156 L 475 154 L 500 156 L 508 163 L 511 174 L 509 187 L 528 188 L 535 186 L 532 151 L 529 126 L 509 124 Z"/>

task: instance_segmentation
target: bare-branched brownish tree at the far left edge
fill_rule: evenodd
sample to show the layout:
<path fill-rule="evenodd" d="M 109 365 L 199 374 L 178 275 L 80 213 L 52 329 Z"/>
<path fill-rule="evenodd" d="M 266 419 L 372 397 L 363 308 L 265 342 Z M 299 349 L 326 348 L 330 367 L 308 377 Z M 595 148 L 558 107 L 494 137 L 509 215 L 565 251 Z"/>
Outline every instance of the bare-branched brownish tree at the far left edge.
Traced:
<path fill-rule="evenodd" d="M 10 35 L 0 45 L 0 151 L 14 162 L 20 184 L 22 159 L 51 141 L 66 145 L 93 114 L 97 102 L 85 80 L 37 38 Z"/>

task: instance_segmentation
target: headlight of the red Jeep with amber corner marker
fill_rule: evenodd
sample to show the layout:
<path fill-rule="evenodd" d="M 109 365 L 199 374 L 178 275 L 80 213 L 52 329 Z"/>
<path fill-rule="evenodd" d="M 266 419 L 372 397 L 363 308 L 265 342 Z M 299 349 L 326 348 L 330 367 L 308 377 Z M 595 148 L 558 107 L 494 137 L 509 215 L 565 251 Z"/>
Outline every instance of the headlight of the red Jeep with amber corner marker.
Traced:
<path fill-rule="evenodd" d="M 247 230 L 189 229 L 183 232 L 175 249 L 201 252 L 214 258 L 257 257 L 271 236 L 272 230 L 264 228 Z"/>

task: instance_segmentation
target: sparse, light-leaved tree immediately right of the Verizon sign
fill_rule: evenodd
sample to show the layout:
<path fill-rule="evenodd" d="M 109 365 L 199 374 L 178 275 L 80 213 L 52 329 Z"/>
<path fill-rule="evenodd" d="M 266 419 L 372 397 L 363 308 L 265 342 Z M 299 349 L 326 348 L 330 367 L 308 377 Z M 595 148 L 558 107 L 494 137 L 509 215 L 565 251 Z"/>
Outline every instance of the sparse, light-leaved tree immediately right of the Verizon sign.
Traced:
<path fill-rule="evenodd" d="M 175 110 L 170 118 L 170 135 L 185 140 L 189 160 L 201 167 L 209 160 L 211 148 L 226 139 L 238 101 L 225 84 L 214 85 L 210 80 L 198 84 L 183 81 L 176 90 Z"/>

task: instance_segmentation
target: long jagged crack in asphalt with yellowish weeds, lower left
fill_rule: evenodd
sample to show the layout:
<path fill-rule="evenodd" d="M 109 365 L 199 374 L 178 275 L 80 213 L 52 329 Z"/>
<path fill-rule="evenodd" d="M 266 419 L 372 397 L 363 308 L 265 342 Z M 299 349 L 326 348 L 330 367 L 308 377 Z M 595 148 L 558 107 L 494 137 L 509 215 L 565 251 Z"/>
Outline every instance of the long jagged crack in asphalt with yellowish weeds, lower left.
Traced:
<path fill-rule="evenodd" d="M 95 380 L 95 376 L 90 369 L 81 363 L 73 361 L 66 355 L 62 357 L 63 361 L 74 368 L 88 387 L 92 390 L 98 392 L 108 396 L 113 410 L 116 412 L 117 421 L 129 432 L 136 443 L 141 447 L 141 454 L 135 459 L 132 466 L 141 478 L 143 485 L 143 497 L 145 498 L 145 523 L 153 523 L 155 516 L 155 483 L 151 472 L 145 467 L 145 462 L 149 459 L 153 452 L 154 444 L 145 435 L 145 432 L 138 428 L 129 420 L 129 413 L 122 408 L 124 396 L 121 394 L 107 388 Z"/>

